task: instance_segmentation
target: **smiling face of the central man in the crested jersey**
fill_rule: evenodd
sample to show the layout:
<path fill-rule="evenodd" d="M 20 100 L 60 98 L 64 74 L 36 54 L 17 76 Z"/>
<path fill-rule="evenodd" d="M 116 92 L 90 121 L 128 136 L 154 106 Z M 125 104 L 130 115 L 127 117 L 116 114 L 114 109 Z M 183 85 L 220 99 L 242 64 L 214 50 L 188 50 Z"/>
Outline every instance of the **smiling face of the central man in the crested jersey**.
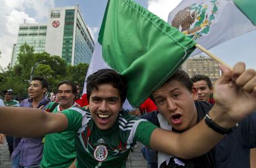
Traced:
<path fill-rule="evenodd" d="M 113 127 L 122 110 L 119 91 L 111 84 L 98 85 L 98 90 L 93 88 L 90 95 L 89 109 L 92 118 L 100 130 L 108 130 Z"/>

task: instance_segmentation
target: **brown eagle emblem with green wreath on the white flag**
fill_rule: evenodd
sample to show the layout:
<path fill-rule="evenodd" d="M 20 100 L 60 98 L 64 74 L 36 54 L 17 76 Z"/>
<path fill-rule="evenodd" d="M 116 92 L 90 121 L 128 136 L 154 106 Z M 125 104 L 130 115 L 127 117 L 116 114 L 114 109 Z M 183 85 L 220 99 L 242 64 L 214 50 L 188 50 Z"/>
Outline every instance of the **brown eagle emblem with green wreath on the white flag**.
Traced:
<path fill-rule="evenodd" d="M 210 31 L 211 22 L 218 11 L 217 5 L 218 0 L 194 3 L 177 12 L 171 25 L 196 40 Z"/>

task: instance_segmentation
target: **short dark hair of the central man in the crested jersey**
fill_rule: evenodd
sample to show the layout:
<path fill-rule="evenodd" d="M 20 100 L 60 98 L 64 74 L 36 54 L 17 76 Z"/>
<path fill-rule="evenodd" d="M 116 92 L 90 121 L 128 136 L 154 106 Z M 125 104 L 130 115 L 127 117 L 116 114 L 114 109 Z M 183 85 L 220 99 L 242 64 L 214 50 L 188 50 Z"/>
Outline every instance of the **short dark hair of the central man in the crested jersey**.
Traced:
<path fill-rule="evenodd" d="M 98 86 L 102 84 L 111 84 L 116 88 L 121 97 L 121 103 L 124 103 L 127 96 L 127 80 L 121 74 L 112 69 L 101 69 L 87 78 L 87 99 L 90 101 L 92 90 L 98 90 Z"/>

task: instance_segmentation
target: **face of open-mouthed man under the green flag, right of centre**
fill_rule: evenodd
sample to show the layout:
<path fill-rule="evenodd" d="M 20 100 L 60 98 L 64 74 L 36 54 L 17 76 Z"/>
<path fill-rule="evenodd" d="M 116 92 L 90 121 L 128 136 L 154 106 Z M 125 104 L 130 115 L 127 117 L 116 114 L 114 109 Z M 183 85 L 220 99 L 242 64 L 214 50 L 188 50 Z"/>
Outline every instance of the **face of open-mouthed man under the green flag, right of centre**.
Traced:
<path fill-rule="evenodd" d="M 195 88 L 189 91 L 177 80 L 171 80 L 156 90 L 152 96 L 158 111 L 176 130 L 187 130 L 197 124 Z"/>

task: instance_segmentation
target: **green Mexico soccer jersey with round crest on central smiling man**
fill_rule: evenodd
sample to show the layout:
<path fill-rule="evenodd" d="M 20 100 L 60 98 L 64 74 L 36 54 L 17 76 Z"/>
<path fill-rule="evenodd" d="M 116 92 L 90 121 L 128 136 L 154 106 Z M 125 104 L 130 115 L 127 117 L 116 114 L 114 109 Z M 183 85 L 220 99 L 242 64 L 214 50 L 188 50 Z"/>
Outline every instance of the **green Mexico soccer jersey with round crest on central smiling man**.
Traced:
<path fill-rule="evenodd" d="M 119 112 L 114 126 L 109 130 L 96 127 L 91 114 L 84 108 L 72 107 L 62 111 L 69 120 L 67 130 L 75 131 L 77 168 L 126 167 L 130 147 L 138 140 L 150 146 L 150 136 L 157 128 L 145 119 Z"/>

